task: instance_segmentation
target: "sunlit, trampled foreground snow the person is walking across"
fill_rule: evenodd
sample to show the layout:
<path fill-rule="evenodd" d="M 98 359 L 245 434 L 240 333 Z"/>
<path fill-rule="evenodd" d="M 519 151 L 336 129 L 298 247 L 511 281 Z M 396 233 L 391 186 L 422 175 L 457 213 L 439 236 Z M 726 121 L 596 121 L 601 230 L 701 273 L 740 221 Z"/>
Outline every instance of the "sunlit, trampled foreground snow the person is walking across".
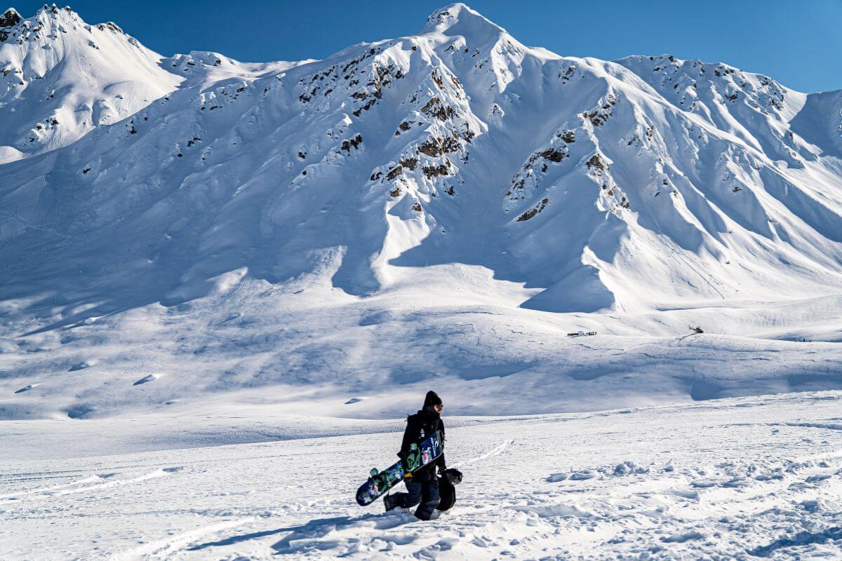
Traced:
<path fill-rule="evenodd" d="M 465 479 L 429 522 L 354 503 L 397 432 L 0 460 L 0 558 L 839 559 L 840 400 L 453 426 L 446 453 Z M 37 439 L 37 423 L 16 433 Z"/>

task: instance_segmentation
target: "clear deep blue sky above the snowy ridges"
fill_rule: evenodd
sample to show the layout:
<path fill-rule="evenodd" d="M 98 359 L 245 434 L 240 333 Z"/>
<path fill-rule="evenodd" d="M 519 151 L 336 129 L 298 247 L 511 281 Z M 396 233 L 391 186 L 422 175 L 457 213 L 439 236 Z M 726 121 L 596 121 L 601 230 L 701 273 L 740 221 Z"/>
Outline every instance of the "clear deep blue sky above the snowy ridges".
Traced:
<path fill-rule="evenodd" d="M 13 0 L 24 17 L 43 2 Z M 842 88 L 842 0 L 466 2 L 526 45 L 616 59 L 669 53 L 723 61 L 804 92 Z M 447 2 L 73 0 L 89 24 L 114 21 L 163 55 L 216 50 L 241 61 L 323 58 L 412 34 Z M 61 5 L 61 4 L 60 4 Z"/>

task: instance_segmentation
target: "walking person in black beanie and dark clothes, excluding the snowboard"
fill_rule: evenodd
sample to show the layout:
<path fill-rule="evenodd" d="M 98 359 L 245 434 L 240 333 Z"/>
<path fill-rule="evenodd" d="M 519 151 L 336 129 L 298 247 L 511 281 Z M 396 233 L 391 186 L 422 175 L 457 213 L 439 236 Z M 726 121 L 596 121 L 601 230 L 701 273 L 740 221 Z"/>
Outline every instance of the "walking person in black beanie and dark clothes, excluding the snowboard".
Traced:
<path fill-rule="evenodd" d="M 444 439 L 445 423 L 441 421 L 441 411 L 444 407 L 438 394 L 429 391 L 424 398 L 424 407 L 415 415 L 407 417 L 407 430 L 403 431 L 401 451 L 397 453 L 404 462 L 404 469 L 410 446 L 420 443 L 435 431 L 441 431 L 441 437 Z M 439 505 L 439 479 L 436 477 L 435 468 L 438 467 L 439 473 L 443 473 L 445 465 L 445 453 L 442 453 L 435 462 L 404 475 L 403 482 L 407 485 L 407 492 L 384 496 L 386 512 L 398 506 L 409 508 L 418 505 L 415 516 L 421 520 L 429 520 L 435 507 Z"/>

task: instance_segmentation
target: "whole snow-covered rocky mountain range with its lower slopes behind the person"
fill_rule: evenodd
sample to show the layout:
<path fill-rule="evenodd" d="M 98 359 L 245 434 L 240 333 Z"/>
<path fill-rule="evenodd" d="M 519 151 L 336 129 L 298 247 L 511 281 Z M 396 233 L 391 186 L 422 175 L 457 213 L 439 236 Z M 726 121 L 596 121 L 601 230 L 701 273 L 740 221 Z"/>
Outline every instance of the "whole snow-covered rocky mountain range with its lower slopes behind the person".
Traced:
<path fill-rule="evenodd" d="M 842 92 L 463 4 L 264 65 L 0 25 L 0 416 L 842 387 Z"/>

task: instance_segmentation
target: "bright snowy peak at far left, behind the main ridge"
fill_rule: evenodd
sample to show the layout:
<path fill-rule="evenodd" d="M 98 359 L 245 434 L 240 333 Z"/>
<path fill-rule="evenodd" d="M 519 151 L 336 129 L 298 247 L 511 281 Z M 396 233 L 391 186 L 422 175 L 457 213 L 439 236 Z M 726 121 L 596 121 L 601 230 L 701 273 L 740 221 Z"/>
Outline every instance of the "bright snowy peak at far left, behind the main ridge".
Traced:
<path fill-rule="evenodd" d="M 136 114 L 178 87 L 162 57 L 116 24 L 88 25 L 70 8 L 0 16 L 0 163 L 68 146 Z"/>

